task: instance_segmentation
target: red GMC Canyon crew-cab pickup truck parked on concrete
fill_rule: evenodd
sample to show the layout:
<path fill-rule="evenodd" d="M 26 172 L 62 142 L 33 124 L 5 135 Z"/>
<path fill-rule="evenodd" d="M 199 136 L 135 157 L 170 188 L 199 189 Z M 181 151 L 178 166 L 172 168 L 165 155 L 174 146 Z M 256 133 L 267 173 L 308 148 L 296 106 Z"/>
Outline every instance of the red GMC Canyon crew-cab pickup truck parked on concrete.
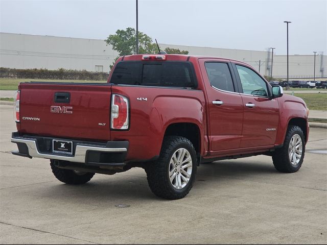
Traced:
<path fill-rule="evenodd" d="M 59 181 L 142 167 L 165 199 L 189 193 L 200 163 L 264 154 L 294 173 L 309 136 L 303 100 L 214 57 L 131 55 L 107 84 L 20 83 L 14 113 L 12 153 L 50 159 Z"/>

